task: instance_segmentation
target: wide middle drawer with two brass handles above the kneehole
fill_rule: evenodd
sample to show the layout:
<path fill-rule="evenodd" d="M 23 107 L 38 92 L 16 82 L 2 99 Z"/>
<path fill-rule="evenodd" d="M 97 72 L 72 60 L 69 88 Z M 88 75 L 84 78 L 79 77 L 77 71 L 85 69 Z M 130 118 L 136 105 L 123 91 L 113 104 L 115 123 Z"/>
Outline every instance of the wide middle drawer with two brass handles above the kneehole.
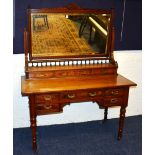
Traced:
<path fill-rule="evenodd" d="M 103 90 L 72 91 L 63 93 L 61 95 L 61 101 L 89 101 L 95 98 L 99 98 L 101 96 L 103 96 Z"/>

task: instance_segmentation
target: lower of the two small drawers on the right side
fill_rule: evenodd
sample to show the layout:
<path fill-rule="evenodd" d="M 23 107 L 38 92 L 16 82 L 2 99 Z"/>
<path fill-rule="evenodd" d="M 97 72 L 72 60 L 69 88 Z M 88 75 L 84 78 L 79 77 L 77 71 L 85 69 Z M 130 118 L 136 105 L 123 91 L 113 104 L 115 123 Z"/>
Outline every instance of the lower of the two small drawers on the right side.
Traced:
<path fill-rule="evenodd" d="M 123 104 L 123 97 L 105 97 L 103 104 L 106 106 L 119 106 Z"/>

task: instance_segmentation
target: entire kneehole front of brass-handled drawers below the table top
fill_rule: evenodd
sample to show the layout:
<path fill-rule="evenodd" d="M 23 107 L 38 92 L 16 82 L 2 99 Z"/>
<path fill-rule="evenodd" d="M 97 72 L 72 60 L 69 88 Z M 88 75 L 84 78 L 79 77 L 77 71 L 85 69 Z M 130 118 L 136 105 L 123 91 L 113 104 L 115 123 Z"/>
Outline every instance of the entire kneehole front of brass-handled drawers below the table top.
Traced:
<path fill-rule="evenodd" d="M 124 104 L 124 92 L 123 88 L 108 88 L 36 94 L 37 114 L 60 112 L 62 105 L 73 102 L 99 101 L 103 106 L 121 106 Z"/>

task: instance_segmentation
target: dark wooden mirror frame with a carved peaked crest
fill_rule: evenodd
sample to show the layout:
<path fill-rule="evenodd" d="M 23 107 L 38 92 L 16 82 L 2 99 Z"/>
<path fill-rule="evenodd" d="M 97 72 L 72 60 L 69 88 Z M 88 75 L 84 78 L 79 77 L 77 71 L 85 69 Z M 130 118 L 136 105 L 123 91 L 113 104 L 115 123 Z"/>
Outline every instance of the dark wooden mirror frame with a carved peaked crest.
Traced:
<path fill-rule="evenodd" d="M 84 59 L 84 58 L 102 58 L 102 57 L 110 57 L 112 51 L 112 28 L 113 28 L 113 14 L 114 10 L 97 10 L 97 9 L 86 9 L 80 8 L 76 5 L 68 5 L 67 7 L 60 7 L 60 8 L 41 8 L 41 9 L 28 9 L 28 53 L 29 53 L 29 60 L 42 60 L 42 59 Z M 111 20 L 109 23 L 109 35 L 107 40 L 107 52 L 105 54 L 85 54 L 85 55 L 65 55 L 65 56 L 32 56 L 32 38 L 31 38 L 31 14 L 32 13 L 79 13 L 79 14 L 110 14 Z"/>

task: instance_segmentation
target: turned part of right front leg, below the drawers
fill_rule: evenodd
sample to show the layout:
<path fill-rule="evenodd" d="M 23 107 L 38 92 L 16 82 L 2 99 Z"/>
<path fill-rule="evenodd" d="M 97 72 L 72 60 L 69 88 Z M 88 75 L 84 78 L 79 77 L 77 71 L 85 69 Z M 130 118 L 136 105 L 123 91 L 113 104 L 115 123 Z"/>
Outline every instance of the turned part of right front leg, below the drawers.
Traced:
<path fill-rule="evenodd" d="M 122 138 L 124 119 L 125 119 L 125 112 L 126 112 L 126 106 L 121 106 L 120 118 L 119 118 L 118 137 L 117 137 L 118 140 L 120 140 Z"/>

